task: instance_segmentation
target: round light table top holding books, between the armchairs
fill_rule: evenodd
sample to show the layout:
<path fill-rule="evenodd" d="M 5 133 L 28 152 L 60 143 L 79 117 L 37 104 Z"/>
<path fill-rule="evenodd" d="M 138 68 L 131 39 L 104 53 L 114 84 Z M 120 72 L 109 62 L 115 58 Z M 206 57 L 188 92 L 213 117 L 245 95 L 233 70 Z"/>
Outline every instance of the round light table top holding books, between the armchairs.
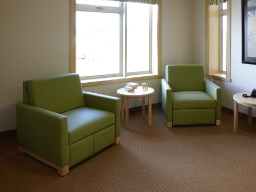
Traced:
<path fill-rule="evenodd" d="M 154 93 L 154 89 L 148 87 L 147 90 L 142 89 L 142 86 L 139 86 L 137 89 L 134 90 L 134 92 L 128 92 L 125 90 L 125 87 L 118 89 L 116 92 L 119 95 L 125 96 L 125 97 L 143 97 L 147 95 L 151 95 Z"/>

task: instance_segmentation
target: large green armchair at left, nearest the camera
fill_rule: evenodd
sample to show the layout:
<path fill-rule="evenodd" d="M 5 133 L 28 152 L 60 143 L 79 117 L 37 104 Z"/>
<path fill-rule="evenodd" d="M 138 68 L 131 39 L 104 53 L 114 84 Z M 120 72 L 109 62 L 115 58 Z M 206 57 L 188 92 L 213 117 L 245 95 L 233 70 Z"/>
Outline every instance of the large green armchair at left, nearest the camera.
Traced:
<path fill-rule="evenodd" d="M 23 103 L 16 109 L 18 152 L 62 176 L 120 141 L 120 99 L 83 92 L 78 74 L 24 81 Z"/>

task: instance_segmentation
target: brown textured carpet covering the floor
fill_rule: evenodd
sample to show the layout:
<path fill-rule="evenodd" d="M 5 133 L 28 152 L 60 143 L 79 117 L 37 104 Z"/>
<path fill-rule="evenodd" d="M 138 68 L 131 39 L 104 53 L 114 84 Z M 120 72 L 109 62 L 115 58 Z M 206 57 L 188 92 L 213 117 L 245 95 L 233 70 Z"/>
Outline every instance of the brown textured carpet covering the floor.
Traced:
<path fill-rule="evenodd" d="M 222 113 L 221 126 L 166 128 L 161 108 L 152 126 L 141 113 L 121 127 L 121 143 L 57 170 L 18 154 L 16 138 L 0 140 L 0 191 L 256 191 L 256 125 Z"/>

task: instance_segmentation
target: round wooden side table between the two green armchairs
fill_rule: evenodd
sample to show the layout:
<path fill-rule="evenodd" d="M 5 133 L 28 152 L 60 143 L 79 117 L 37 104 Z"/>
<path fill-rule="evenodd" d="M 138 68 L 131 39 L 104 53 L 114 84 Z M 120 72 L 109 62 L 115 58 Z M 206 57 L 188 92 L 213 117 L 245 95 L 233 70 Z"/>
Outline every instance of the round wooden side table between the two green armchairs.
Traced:
<path fill-rule="evenodd" d="M 151 95 L 154 93 L 154 89 L 148 87 L 147 90 L 143 90 L 141 86 L 135 89 L 134 92 L 127 92 L 125 87 L 118 89 L 117 94 L 121 95 L 121 121 L 124 121 L 124 98 L 125 98 L 125 129 L 129 129 L 129 99 L 142 98 L 142 118 L 145 118 L 145 98 L 148 98 L 148 126 L 151 126 L 151 113 L 152 103 Z"/>

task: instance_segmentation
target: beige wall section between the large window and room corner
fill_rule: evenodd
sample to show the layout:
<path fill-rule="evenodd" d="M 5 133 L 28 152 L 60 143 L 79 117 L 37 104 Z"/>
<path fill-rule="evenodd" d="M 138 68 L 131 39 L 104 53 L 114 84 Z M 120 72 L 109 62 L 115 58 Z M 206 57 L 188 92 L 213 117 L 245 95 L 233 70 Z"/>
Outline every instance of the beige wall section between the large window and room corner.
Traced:
<path fill-rule="evenodd" d="M 194 64 L 193 3 L 191 0 L 163 0 L 163 77 L 165 65 Z"/>

